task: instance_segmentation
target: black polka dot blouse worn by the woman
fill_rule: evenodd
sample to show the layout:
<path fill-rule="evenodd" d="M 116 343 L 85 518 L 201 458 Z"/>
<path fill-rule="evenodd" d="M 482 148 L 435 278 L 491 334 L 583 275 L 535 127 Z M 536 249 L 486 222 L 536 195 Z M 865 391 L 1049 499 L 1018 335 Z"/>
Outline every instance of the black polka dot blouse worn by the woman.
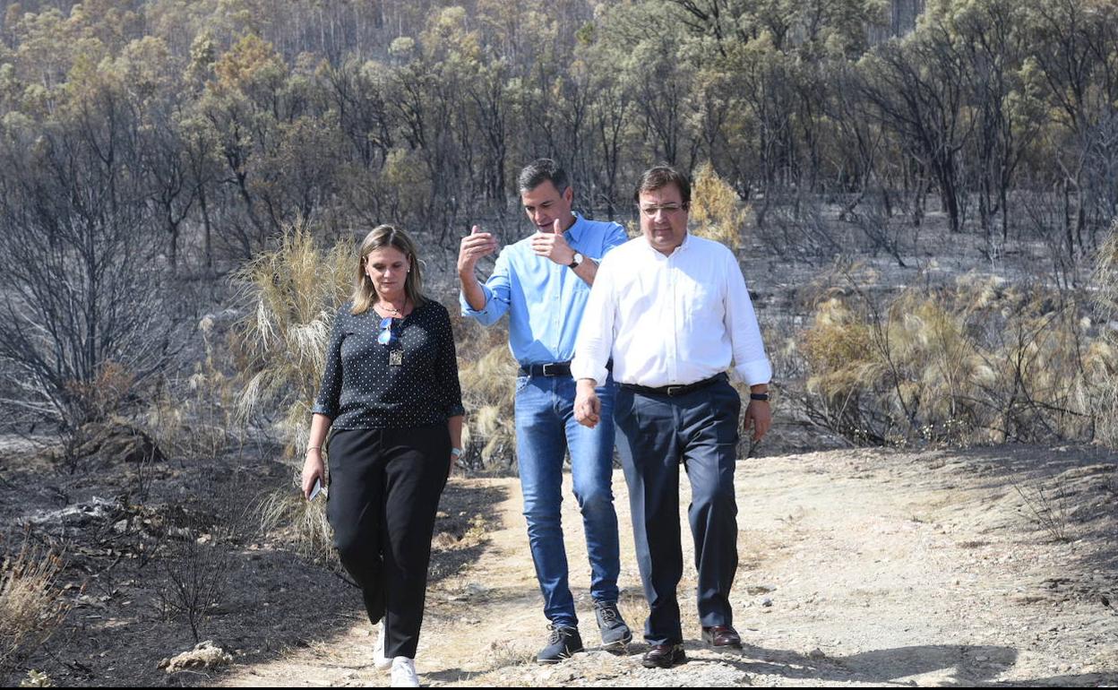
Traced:
<path fill-rule="evenodd" d="M 425 300 L 394 319 L 391 342 L 378 337 L 381 316 L 372 308 L 338 310 L 326 368 L 312 412 L 333 428 L 413 428 L 464 414 L 454 333 L 446 308 Z"/>

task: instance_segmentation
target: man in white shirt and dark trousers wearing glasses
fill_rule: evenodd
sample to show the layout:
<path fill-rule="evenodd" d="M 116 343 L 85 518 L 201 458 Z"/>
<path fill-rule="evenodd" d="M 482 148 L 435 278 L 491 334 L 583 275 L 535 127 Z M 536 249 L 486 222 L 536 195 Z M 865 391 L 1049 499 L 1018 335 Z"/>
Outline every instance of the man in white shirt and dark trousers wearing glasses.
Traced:
<path fill-rule="evenodd" d="M 731 359 L 750 386 L 743 419 L 759 439 L 771 424 L 771 367 L 737 258 L 724 246 L 688 234 L 691 186 L 657 166 L 634 195 L 637 237 L 598 267 L 571 362 L 578 379 L 575 416 L 601 418 L 595 387 L 613 357 L 620 390 L 614 406 L 633 512 L 637 563 L 650 605 L 645 667 L 685 660 L 675 590 L 683 575 L 679 465 L 691 480 L 688 511 L 699 569 L 699 617 L 709 645 L 740 648 L 730 587 L 738 567 L 737 461 L 741 399 L 726 370 Z"/>

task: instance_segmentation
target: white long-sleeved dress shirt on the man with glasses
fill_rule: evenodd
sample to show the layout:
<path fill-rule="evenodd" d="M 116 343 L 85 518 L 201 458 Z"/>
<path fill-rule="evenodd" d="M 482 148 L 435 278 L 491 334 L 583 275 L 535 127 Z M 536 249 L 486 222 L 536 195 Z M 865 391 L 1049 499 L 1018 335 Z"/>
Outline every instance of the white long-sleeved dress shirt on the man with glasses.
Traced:
<path fill-rule="evenodd" d="M 730 366 L 749 386 L 767 384 L 754 304 L 733 253 L 688 233 L 671 256 L 643 236 L 601 261 L 582 313 L 571 375 L 660 388 L 708 379 Z"/>

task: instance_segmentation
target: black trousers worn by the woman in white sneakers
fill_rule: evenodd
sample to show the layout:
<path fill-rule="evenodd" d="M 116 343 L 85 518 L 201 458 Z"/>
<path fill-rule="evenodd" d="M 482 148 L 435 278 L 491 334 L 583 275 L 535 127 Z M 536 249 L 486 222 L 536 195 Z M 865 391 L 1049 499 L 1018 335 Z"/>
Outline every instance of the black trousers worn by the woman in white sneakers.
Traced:
<path fill-rule="evenodd" d="M 385 654 L 414 659 L 423 624 L 438 497 L 451 463 L 446 425 L 340 429 L 329 442 L 326 517 L 369 620 L 385 617 Z"/>

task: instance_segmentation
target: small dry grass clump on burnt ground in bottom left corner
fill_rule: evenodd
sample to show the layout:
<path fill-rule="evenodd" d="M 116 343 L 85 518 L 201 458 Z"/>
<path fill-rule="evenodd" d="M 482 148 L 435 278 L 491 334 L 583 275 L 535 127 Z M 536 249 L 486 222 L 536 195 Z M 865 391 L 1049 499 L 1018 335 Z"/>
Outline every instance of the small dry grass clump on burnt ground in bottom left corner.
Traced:
<path fill-rule="evenodd" d="M 0 566 L 0 678 L 11 672 L 55 633 L 69 603 L 58 576 L 63 559 L 25 538 Z"/>

